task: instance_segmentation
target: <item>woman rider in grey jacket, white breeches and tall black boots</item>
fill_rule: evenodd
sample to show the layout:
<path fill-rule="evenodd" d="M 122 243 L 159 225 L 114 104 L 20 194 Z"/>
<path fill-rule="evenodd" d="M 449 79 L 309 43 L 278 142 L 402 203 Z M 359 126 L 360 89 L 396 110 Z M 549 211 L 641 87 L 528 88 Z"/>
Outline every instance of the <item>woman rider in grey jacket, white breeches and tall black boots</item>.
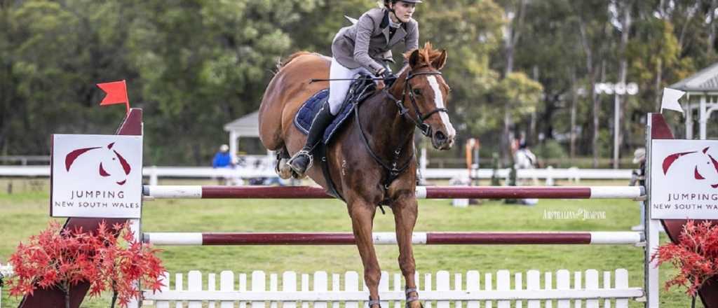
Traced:
<path fill-rule="evenodd" d="M 421 0 L 384 0 L 383 7 L 370 9 L 356 24 L 339 30 L 332 42 L 329 107 L 317 112 L 307 143 L 287 162 L 294 172 L 303 175 L 312 167 L 312 149 L 342 107 L 352 82 L 348 79 L 364 72 L 383 77 L 386 87 L 396 80 L 384 62 L 393 62 L 391 47 L 399 42 L 404 42 L 406 51 L 419 47 L 419 23 L 411 18 L 417 3 Z"/>

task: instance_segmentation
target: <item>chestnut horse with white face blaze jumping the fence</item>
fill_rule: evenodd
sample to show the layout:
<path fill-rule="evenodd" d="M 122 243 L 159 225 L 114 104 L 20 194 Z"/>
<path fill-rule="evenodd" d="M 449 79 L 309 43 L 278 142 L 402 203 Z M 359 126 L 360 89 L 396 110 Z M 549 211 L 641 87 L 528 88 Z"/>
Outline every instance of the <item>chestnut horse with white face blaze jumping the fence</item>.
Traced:
<path fill-rule="evenodd" d="M 436 50 L 427 42 L 404 57 L 409 64 L 398 72 L 396 82 L 391 87 L 377 88 L 361 102 L 351 115 L 354 118 L 344 123 L 326 148 L 329 179 L 345 200 L 352 221 L 364 281 L 372 300 L 370 306 L 378 305 L 375 301 L 381 278 L 373 246 L 373 218 L 376 208 L 383 204 L 394 215 L 407 307 L 421 307 L 411 247 L 418 213 L 414 131 L 419 127 L 438 150 L 451 148 L 456 135 L 445 105 L 450 89 L 440 72 L 447 61 L 446 50 Z M 264 92 L 259 109 L 259 138 L 267 149 L 276 151 L 276 170 L 283 178 L 292 172 L 286 160 L 301 150 L 306 140 L 294 126 L 294 116 L 304 101 L 328 87 L 330 63 L 331 58 L 321 54 L 292 54 L 280 64 Z M 319 163 L 309 168 L 307 175 L 329 189 L 330 181 L 325 179 Z"/>

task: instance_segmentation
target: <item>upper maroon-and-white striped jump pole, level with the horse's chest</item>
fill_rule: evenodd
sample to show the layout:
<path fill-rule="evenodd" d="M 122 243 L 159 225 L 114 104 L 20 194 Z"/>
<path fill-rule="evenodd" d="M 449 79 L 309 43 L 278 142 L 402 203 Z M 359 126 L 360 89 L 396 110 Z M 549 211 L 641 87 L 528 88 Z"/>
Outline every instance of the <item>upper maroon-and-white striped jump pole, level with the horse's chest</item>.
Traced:
<path fill-rule="evenodd" d="M 323 199 L 332 198 L 320 187 L 309 186 L 144 186 L 148 199 Z M 417 186 L 422 199 L 635 199 L 645 196 L 640 186 Z"/>

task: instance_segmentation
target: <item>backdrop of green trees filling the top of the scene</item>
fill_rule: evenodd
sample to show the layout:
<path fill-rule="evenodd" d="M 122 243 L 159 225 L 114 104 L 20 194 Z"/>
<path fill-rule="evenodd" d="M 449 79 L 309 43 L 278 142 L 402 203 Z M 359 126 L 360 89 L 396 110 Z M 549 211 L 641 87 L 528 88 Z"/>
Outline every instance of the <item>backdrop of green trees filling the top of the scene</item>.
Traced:
<path fill-rule="evenodd" d="M 113 133 L 124 110 L 98 107 L 102 94 L 94 84 L 126 79 L 132 105 L 145 111 L 144 161 L 207 165 L 226 143 L 223 124 L 257 109 L 280 59 L 299 50 L 330 55 L 333 37 L 349 25 L 344 15 L 358 17 L 376 2 L 0 0 L 0 155 L 47 155 L 52 133 Z M 710 1 L 632 1 L 628 46 L 620 52 L 615 5 L 419 4 L 419 44 L 432 42 L 449 53 L 444 77 L 457 133 L 481 136 L 493 150 L 509 111 L 510 130 L 528 127 L 532 141 L 540 134 L 551 140 L 574 128 L 575 99 L 582 129 L 577 153 L 591 153 L 593 117 L 600 139 L 610 138 L 612 110 L 594 115 L 585 94 L 589 64 L 593 80 L 615 82 L 625 57 L 628 80 L 640 92 L 625 101 L 623 147 L 641 143 L 640 119 L 656 111 L 661 87 L 718 60 L 715 9 Z M 509 29 L 518 37 L 513 73 L 501 76 Z M 398 63 L 403 52 L 398 44 Z M 612 145 L 602 141 L 601 157 L 610 157 L 606 147 Z"/>

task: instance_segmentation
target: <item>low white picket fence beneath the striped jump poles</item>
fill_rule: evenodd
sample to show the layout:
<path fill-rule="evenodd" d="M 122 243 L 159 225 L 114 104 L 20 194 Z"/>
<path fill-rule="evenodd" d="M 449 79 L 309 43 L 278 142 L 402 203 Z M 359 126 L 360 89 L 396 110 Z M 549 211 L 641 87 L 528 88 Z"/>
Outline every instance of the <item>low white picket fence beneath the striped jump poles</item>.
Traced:
<path fill-rule="evenodd" d="M 628 307 L 629 299 L 644 296 L 642 288 L 628 287 L 627 270 L 604 271 L 602 274 L 600 279 L 599 271 L 595 269 L 576 271 L 573 275 L 565 269 L 543 275 L 531 270 L 526 272 L 526 284 L 523 283 L 522 273 L 513 274 L 512 279 L 506 270 L 495 275 L 485 273 L 483 279 L 478 271 L 454 275 L 438 271 L 436 275 L 424 274 L 421 279 L 419 275 L 416 277 L 419 297 L 426 308 L 432 308 L 432 305 L 436 308 L 462 308 L 463 305 L 467 308 L 492 308 L 494 304 L 498 308 L 521 308 L 524 304 L 528 308 L 569 308 L 582 307 L 582 302 L 587 308 L 622 308 Z M 314 308 L 340 308 L 341 303 L 345 308 L 358 308 L 360 304 L 366 306 L 369 294 L 355 271 L 348 271 L 343 276 L 332 274 L 331 279 L 325 271 L 317 271 L 313 275 L 286 271 L 281 275 L 281 281 L 278 274 L 269 274 L 267 281 L 268 275 L 264 271 L 253 271 L 249 282 L 247 274 L 238 274 L 236 281 L 233 271 L 222 271 L 219 276 L 217 289 L 216 274 L 203 276 L 200 271 L 190 271 L 186 286 L 182 274 L 176 274 L 174 281 L 169 281 L 169 274 L 166 274 L 164 284 L 167 287 L 154 294 L 144 291 L 145 303 L 152 304 L 147 301 L 154 301 L 157 308 L 169 308 L 170 304 L 182 308 L 185 303 L 189 308 L 246 308 L 247 304 L 251 308 L 266 308 L 266 304 L 269 308 L 279 305 L 297 308 L 298 304 L 308 308 L 310 303 Z M 379 294 L 384 301 L 381 307 L 404 307 L 402 280 L 400 274 L 393 274 L 390 281 L 387 272 L 381 273 Z"/>

